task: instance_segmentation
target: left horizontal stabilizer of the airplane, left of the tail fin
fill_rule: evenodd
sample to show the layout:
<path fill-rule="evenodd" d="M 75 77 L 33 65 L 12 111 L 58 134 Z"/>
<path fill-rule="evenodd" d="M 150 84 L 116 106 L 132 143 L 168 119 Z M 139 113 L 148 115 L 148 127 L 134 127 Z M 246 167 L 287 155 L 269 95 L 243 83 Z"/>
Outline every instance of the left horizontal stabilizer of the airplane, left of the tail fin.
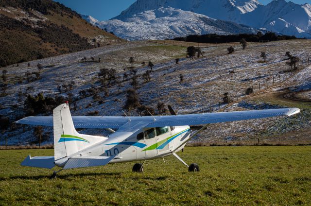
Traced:
<path fill-rule="evenodd" d="M 31 157 L 30 154 L 20 164 L 21 166 L 37 167 L 52 169 L 54 165 L 54 156 L 35 156 Z"/>

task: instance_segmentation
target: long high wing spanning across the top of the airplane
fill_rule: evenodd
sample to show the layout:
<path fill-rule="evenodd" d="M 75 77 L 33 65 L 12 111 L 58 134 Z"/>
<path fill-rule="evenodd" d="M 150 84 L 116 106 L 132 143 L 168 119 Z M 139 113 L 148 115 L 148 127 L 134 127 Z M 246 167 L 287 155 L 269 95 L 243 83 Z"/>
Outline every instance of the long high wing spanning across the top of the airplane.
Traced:
<path fill-rule="evenodd" d="M 190 115 L 154 116 L 154 117 L 72 117 L 75 128 L 83 129 L 119 129 L 128 122 L 144 127 L 201 125 L 208 123 L 251 120 L 276 116 L 292 116 L 300 112 L 298 108 L 249 110 L 236 112 L 217 112 Z M 53 117 L 26 117 L 18 120 L 19 124 L 53 126 Z"/>

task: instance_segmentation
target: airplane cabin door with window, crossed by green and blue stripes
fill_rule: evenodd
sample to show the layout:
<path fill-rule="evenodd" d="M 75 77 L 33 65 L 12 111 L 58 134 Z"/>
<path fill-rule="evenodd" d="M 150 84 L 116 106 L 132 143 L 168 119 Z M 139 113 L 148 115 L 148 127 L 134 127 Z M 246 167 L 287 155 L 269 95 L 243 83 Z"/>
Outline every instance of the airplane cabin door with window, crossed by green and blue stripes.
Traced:
<path fill-rule="evenodd" d="M 157 143 L 157 154 L 166 154 L 170 152 L 170 142 L 168 138 L 172 136 L 172 132 L 169 127 L 157 127 L 156 131 L 156 143 Z"/>

